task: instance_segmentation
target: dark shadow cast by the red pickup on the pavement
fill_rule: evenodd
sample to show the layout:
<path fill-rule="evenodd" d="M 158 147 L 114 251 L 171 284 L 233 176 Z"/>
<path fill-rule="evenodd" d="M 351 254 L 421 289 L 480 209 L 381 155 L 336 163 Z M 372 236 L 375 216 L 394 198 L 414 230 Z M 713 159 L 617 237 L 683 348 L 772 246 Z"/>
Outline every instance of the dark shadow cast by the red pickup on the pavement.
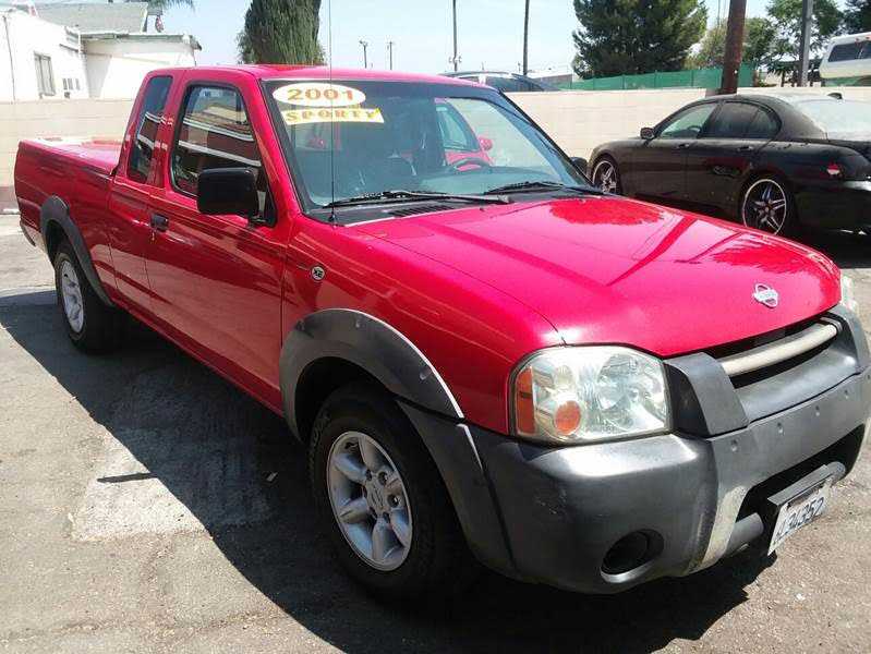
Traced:
<path fill-rule="evenodd" d="M 143 327 L 120 352 L 87 356 L 69 343 L 53 305 L 2 306 L 0 324 L 147 471 L 95 483 L 158 479 L 251 584 L 344 651 L 646 652 L 700 639 L 747 598 L 745 586 L 767 565 L 739 555 L 616 596 L 484 573 L 446 610 L 384 605 L 351 583 L 324 546 L 305 452 L 278 416 Z M 202 592 L 232 600 L 232 589 L 202 583 Z"/>

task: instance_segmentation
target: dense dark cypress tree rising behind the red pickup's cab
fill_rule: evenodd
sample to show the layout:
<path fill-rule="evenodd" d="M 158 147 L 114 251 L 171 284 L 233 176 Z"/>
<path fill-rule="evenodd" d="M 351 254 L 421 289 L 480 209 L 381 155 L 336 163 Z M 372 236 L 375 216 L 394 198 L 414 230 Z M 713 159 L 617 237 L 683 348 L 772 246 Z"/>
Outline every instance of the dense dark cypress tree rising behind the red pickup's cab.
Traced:
<path fill-rule="evenodd" d="M 252 0 L 237 36 L 243 63 L 322 63 L 320 0 Z"/>

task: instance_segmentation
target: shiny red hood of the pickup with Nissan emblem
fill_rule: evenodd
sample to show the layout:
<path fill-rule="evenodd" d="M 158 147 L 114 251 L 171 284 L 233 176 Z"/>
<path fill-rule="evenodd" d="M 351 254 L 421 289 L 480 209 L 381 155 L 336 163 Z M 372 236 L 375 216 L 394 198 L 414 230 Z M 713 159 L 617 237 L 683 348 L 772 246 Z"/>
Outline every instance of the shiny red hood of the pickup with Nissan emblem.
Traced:
<path fill-rule="evenodd" d="M 668 356 L 786 327 L 840 298 L 838 269 L 813 250 L 626 198 L 464 207 L 353 229 L 513 296 L 572 344 Z M 757 284 L 777 291 L 776 307 L 753 298 Z"/>

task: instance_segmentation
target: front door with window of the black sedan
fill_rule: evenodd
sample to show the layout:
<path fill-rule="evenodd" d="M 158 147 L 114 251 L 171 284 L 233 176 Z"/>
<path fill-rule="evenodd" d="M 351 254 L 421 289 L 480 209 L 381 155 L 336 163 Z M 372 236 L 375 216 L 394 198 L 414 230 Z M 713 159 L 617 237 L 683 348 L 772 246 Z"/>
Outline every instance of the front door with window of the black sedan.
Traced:
<path fill-rule="evenodd" d="M 707 102 L 679 111 L 639 147 L 632 166 L 636 195 L 686 199 L 687 153 L 716 108 L 716 102 Z"/>

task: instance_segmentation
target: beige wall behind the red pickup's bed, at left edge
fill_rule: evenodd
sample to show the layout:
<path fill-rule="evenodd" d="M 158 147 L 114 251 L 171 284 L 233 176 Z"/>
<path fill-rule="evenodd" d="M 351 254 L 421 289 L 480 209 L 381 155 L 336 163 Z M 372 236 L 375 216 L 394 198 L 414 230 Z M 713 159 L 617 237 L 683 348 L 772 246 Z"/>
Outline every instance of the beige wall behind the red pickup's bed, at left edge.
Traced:
<path fill-rule="evenodd" d="M 0 102 L 0 186 L 12 184 L 22 138 L 102 136 L 121 138 L 133 100 Z"/>

